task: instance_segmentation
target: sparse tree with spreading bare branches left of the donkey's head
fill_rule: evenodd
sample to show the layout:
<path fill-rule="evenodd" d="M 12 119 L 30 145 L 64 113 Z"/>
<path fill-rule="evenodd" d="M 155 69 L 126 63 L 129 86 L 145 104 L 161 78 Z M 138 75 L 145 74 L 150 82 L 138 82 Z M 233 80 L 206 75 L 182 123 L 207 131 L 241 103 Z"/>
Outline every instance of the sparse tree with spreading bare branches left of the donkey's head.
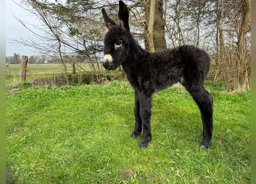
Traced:
<path fill-rule="evenodd" d="M 98 1 L 100 2 L 100 1 Z M 32 31 L 26 22 L 18 19 L 22 25 L 28 28 L 41 43 L 33 40 L 15 40 L 19 43 L 36 48 L 40 53 L 48 56 L 57 56 L 63 65 L 67 85 L 68 74 L 66 64 L 74 66 L 73 61 L 64 60 L 66 56 L 83 55 L 84 62 L 91 64 L 97 82 L 100 82 L 98 74 L 101 72 L 100 54 L 102 51 L 102 32 L 103 24 L 94 17 L 91 11 L 94 11 L 94 5 L 100 6 L 97 2 L 78 3 L 77 1 L 67 1 L 65 4 L 50 1 L 23 0 L 22 7 L 29 13 L 39 18 L 41 26 L 32 25 L 40 33 Z M 90 14 L 90 16 L 85 16 Z M 43 34 L 42 34 L 43 32 Z M 71 57 L 70 57 L 71 58 Z M 78 71 L 87 72 L 79 63 Z M 95 66 L 96 64 L 96 66 Z"/>

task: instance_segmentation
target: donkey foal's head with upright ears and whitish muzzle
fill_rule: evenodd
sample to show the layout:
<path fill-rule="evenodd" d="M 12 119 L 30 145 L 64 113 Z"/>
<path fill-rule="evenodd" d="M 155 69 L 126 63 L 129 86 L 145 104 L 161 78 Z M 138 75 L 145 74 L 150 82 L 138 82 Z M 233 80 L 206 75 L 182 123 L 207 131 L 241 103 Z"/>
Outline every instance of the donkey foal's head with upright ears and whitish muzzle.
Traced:
<path fill-rule="evenodd" d="M 103 66 L 106 70 L 115 70 L 127 59 L 129 52 L 128 8 L 124 2 L 119 1 L 119 25 L 108 17 L 105 9 L 101 12 L 109 29 L 104 38 Z"/>

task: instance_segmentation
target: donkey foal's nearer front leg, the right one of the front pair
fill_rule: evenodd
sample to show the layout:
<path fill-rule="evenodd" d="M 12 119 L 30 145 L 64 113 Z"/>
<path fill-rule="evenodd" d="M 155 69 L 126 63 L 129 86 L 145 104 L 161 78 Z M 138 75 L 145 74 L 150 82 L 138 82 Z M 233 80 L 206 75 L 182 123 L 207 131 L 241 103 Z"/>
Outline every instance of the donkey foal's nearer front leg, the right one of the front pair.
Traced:
<path fill-rule="evenodd" d="M 146 148 L 151 141 L 151 100 L 152 95 L 140 95 L 140 118 L 142 118 L 143 139 L 140 141 L 139 147 Z"/>

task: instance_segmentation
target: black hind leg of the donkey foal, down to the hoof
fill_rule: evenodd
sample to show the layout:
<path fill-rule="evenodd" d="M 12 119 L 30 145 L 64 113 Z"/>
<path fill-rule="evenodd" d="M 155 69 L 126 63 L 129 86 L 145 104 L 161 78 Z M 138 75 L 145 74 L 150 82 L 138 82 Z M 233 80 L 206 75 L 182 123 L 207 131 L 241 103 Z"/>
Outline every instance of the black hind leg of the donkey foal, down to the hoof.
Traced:
<path fill-rule="evenodd" d="M 212 139 L 212 131 L 213 131 L 213 100 L 212 96 L 205 90 L 203 85 L 191 85 L 190 87 L 185 86 L 189 93 L 196 101 L 198 108 L 201 112 L 202 118 L 202 144 L 200 148 L 208 148 L 209 142 Z"/>

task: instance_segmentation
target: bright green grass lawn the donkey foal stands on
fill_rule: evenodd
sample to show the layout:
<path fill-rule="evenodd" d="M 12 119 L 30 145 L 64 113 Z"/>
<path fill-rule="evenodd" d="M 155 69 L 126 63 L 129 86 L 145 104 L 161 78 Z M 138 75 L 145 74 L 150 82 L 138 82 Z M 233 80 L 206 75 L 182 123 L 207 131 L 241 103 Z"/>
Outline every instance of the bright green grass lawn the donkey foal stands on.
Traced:
<path fill-rule="evenodd" d="M 133 90 L 109 85 L 29 87 L 6 93 L 6 165 L 17 183 L 250 183 L 250 89 L 208 82 L 214 131 L 183 87 L 154 95 L 152 141 L 131 139 Z"/>

